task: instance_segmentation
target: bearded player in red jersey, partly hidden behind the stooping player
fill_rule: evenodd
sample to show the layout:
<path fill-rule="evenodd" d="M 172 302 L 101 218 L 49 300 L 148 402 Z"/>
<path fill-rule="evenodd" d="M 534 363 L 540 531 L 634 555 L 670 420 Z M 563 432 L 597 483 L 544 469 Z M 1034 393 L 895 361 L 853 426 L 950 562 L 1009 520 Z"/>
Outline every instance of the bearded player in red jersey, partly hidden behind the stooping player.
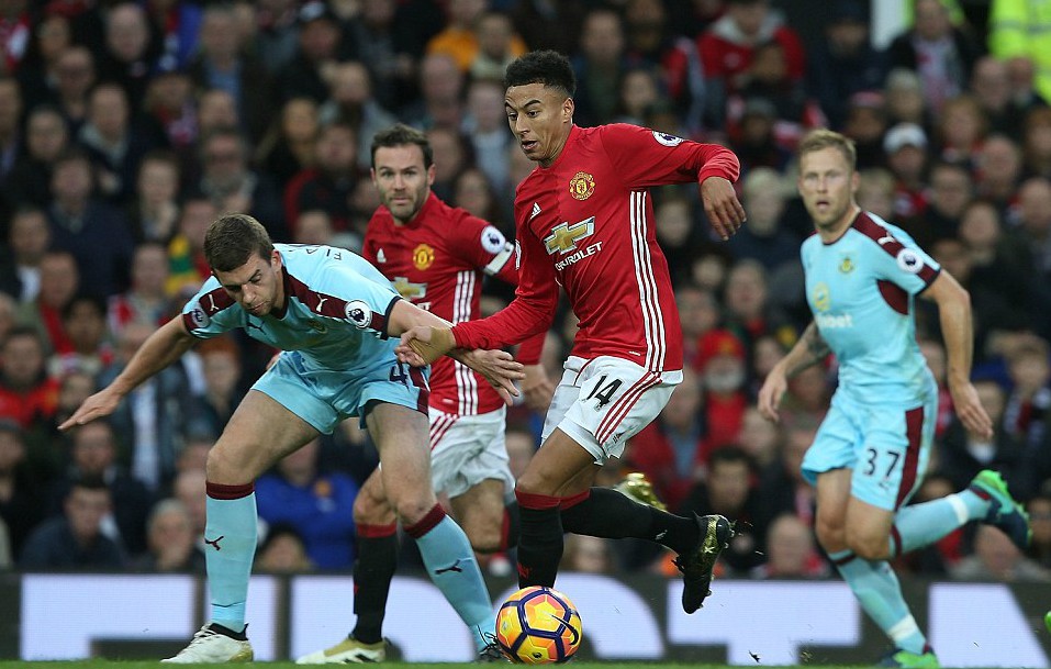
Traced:
<path fill-rule="evenodd" d="M 369 221 L 361 255 L 402 298 L 455 324 L 479 317 L 484 276 L 518 283 L 514 246 L 504 235 L 432 192 L 434 155 L 424 133 L 403 124 L 377 133 L 372 181 L 382 205 Z M 543 346 L 541 332 L 518 352 L 518 361 L 526 365 L 523 389 L 532 390 L 524 394 L 527 401 L 534 399 L 529 403 L 538 410 L 547 409 L 552 391 L 538 364 Z M 505 509 L 514 477 L 504 445 L 503 399 L 469 367 L 443 357 L 431 369 L 429 404 L 435 491 L 448 495 L 477 553 L 508 548 L 517 542 L 518 523 L 510 513 L 514 506 Z M 387 657 L 382 624 L 396 567 L 398 536 L 379 470 L 358 493 L 354 515 L 358 543 L 354 631 L 339 644 L 300 658 L 300 664 L 383 661 Z M 484 634 L 476 634 L 476 643 L 480 653 L 488 653 Z"/>

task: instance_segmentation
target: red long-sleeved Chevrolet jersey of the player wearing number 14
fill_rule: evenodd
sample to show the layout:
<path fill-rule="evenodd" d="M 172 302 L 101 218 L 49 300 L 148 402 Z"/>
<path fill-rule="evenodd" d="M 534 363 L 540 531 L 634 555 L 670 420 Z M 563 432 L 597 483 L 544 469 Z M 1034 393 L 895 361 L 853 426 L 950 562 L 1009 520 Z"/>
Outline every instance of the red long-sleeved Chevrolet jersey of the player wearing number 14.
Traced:
<path fill-rule="evenodd" d="M 515 194 L 518 290 L 507 309 L 452 328 L 457 345 L 497 348 L 547 331 L 558 286 L 580 331 L 573 355 L 682 369 L 682 331 L 668 261 L 653 232 L 649 188 L 730 181 L 737 157 L 714 144 L 625 124 L 573 126 L 558 158 Z"/>

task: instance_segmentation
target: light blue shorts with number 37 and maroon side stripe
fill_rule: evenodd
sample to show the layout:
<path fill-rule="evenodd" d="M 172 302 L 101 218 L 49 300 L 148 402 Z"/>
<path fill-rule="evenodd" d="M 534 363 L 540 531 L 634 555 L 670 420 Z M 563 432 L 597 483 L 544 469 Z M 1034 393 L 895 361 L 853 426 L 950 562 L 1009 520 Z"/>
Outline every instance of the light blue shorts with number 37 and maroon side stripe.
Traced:
<path fill-rule="evenodd" d="M 803 457 L 803 477 L 850 469 L 850 494 L 894 511 L 919 489 L 930 459 L 938 393 L 920 405 L 862 404 L 841 391 Z"/>

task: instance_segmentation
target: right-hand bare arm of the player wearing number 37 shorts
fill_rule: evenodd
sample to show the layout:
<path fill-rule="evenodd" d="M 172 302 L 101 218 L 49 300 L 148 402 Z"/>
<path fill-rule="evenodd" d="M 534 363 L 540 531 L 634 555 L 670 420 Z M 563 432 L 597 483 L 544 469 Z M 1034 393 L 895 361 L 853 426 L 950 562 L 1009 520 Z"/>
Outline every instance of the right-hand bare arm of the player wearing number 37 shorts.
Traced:
<path fill-rule="evenodd" d="M 993 421 L 971 383 L 971 356 L 974 346 L 971 296 L 946 270 L 942 270 L 921 294 L 938 304 L 938 320 L 941 323 L 948 358 L 949 393 L 952 395 L 957 415 L 972 433 L 985 438 L 992 437 Z"/>

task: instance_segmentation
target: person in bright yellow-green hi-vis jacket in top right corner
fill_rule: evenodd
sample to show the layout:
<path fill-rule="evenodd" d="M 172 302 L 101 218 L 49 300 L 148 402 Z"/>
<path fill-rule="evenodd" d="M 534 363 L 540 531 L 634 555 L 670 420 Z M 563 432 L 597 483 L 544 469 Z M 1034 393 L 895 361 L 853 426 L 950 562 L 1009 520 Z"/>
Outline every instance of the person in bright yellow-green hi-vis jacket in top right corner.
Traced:
<path fill-rule="evenodd" d="M 989 52 L 1008 62 L 1011 78 L 1028 75 L 1037 93 L 1051 100 L 1051 37 L 1042 4 L 1022 0 L 989 3 Z"/>

